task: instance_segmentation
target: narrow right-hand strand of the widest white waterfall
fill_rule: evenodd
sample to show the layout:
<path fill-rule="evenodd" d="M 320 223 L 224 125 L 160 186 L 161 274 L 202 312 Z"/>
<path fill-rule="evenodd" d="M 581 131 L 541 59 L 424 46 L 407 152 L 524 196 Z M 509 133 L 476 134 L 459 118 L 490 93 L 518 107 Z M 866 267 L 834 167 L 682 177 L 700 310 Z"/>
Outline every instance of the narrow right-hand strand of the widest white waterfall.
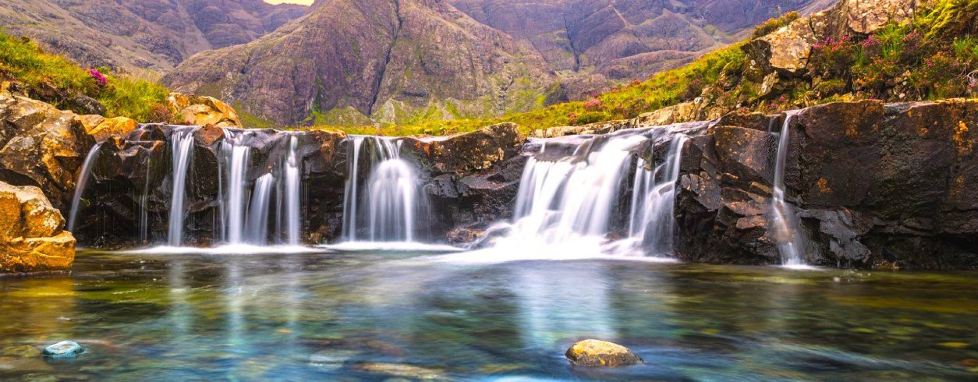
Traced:
<path fill-rule="evenodd" d="M 683 158 L 683 145 L 689 137 L 673 134 L 665 160 L 646 168 L 639 158 L 632 191 L 632 210 L 629 214 L 629 238 L 652 254 L 668 254 L 673 250 L 676 230 L 676 191 Z"/>

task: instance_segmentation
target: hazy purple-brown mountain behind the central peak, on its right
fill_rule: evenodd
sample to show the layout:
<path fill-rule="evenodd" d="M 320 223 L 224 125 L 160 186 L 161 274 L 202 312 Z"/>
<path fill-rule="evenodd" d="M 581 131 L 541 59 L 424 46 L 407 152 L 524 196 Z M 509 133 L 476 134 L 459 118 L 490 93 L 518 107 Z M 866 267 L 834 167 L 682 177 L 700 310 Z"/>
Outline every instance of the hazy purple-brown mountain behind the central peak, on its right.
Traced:
<path fill-rule="evenodd" d="M 834 0 L 450 0 L 533 46 L 557 70 L 643 78 L 744 37 L 788 11 Z"/>

